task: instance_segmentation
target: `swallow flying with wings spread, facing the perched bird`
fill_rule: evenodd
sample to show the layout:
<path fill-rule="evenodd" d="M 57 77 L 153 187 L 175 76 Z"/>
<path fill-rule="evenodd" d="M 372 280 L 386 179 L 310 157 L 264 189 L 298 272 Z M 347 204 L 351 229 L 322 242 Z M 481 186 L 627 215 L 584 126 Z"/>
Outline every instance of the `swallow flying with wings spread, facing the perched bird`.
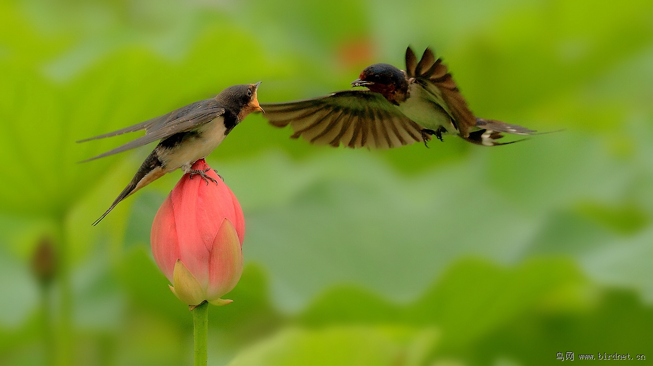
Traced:
<path fill-rule="evenodd" d="M 291 125 L 291 137 L 311 144 L 389 148 L 426 142 L 430 136 L 457 134 L 473 144 L 494 146 L 503 133 L 535 130 L 475 117 L 441 59 L 426 48 L 422 58 L 406 50 L 406 70 L 377 63 L 362 70 L 353 87 L 314 99 L 263 103 L 264 115 L 276 127 Z M 515 142 L 515 141 L 513 141 Z M 428 145 L 427 145 L 428 147 Z"/>

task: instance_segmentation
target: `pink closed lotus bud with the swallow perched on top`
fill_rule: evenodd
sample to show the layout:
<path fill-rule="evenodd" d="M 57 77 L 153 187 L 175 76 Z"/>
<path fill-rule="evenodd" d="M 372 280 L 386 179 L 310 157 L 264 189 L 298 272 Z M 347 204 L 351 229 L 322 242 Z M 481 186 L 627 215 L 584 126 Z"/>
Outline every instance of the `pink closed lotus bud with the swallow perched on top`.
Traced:
<path fill-rule="evenodd" d="M 220 297 L 242 274 L 245 219 L 236 196 L 204 159 L 192 168 L 208 169 L 217 184 L 183 175 L 154 217 L 152 254 L 172 282 L 170 290 L 184 303 L 225 305 L 231 300 Z"/>

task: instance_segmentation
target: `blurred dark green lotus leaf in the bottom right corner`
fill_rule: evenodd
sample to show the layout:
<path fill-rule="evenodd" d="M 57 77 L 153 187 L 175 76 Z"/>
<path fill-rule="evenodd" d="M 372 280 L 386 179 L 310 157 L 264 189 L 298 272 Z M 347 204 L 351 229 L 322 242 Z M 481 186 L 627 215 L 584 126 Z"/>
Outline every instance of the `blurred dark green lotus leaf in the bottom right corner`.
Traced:
<path fill-rule="evenodd" d="M 611 290 L 590 307 L 567 311 L 535 309 L 516 316 L 468 346 L 447 354 L 466 359 L 471 365 L 497 364 L 509 358 L 522 365 L 550 365 L 558 352 L 579 354 L 649 354 L 653 312 L 631 292 Z M 611 348 L 614 351 L 600 351 Z M 559 360 L 556 360 L 559 361 Z"/>

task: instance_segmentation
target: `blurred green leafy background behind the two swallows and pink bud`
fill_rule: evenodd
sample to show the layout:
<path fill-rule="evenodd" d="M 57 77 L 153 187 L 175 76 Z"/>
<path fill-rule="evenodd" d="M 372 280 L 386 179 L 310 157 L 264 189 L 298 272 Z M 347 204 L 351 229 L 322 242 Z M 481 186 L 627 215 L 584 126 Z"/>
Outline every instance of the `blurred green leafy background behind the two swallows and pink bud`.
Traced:
<path fill-rule="evenodd" d="M 564 132 L 352 151 L 248 117 L 208 158 L 247 222 L 210 365 L 653 359 L 650 0 L 1 0 L 0 365 L 192 363 L 149 244 L 181 172 L 91 227 L 151 147 L 75 140 L 232 84 L 347 89 L 408 44 L 477 115 Z"/>

